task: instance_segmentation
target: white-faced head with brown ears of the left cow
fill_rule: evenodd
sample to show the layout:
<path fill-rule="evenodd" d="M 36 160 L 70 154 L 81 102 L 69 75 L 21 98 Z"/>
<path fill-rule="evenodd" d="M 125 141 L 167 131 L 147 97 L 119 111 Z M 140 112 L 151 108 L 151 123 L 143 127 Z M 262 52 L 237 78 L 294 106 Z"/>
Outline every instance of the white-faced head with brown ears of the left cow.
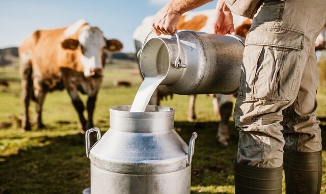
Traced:
<path fill-rule="evenodd" d="M 84 67 L 85 77 L 101 77 L 105 51 L 115 52 L 123 48 L 120 41 L 106 40 L 99 28 L 87 24 L 74 37 L 64 39 L 61 46 L 65 50 L 76 50 L 77 63 Z"/>

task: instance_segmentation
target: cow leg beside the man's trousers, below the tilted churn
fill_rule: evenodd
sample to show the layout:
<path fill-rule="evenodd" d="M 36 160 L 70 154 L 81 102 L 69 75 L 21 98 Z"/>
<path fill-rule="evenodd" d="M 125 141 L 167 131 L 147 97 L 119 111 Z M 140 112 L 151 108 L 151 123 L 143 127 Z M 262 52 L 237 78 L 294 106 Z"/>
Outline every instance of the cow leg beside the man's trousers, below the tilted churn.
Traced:
<path fill-rule="evenodd" d="M 217 134 L 217 138 L 220 143 L 224 146 L 228 146 L 229 144 L 229 119 L 232 114 L 232 96 L 231 95 L 223 95 L 217 94 L 218 103 L 220 105 L 220 115 L 221 115 L 221 122 L 219 125 L 219 130 Z"/>

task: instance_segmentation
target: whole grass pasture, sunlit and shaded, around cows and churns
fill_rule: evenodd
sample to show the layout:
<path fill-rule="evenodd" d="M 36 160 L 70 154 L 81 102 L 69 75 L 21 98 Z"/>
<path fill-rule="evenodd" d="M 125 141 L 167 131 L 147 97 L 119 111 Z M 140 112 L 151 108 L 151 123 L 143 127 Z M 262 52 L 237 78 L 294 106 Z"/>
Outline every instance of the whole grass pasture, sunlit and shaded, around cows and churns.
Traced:
<path fill-rule="evenodd" d="M 0 68 L 0 78 L 10 87 L 0 86 L 0 193 L 81 193 L 90 185 L 90 161 L 86 157 L 84 135 L 77 129 L 77 114 L 66 91 L 46 96 L 43 130 L 22 133 L 20 81 L 17 65 Z M 132 87 L 114 87 L 114 79 L 132 81 Z M 133 62 L 107 65 L 95 110 L 95 126 L 108 129 L 108 109 L 131 104 L 140 85 L 138 67 Z M 86 96 L 83 96 L 85 102 Z M 187 96 L 174 95 L 162 105 L 175 109 L 175 127 L 188 142 L 198 133 L 192 168 L 192 193 L 233 193 L 233 165 L 237 152 L 237 131 L 230 122 L 232 145 L 223 147 L 215 138 L 219 117 L 213 114 L 211 100 L 200 95 L 197 121 L 186 121 Z M 326 193 L 326 89 L 318 91 L 318 117 L 323 134 L 322 193 Z M 30 112 L 35 115 L 32 103 Z M 110 148 L 108 148 L 110 149 Z M 285 186 L 283 185 L 283 190 Z"/>

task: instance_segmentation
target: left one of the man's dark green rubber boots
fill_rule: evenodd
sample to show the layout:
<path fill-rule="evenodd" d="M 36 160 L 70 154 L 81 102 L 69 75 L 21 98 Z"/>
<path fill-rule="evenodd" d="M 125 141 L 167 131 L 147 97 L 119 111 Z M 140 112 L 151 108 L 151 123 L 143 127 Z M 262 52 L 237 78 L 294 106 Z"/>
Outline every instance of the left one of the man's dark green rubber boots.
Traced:
<path fill-rule="evenodd" d="M 280 194 L 282 193 L 282 171 L 283 166 L 259 168 L 234 161 L 235 193 Z"/>

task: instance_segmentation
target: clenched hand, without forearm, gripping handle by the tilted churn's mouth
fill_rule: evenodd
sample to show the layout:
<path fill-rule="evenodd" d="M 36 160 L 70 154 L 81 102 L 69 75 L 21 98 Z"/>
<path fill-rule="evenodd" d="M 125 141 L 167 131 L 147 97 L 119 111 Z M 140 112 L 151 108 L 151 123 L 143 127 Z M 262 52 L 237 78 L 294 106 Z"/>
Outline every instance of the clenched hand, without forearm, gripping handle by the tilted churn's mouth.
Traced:
<path fill-rule="evenodd" d="M 171 2 L 164 6 L 156 13 L 152 23 L 155 34 L 157 36 L 161 34 L 173 36 L 174 31 L 177 30 L 177 24 L 181 15 L 181 13 L 174 9 Z"/>

